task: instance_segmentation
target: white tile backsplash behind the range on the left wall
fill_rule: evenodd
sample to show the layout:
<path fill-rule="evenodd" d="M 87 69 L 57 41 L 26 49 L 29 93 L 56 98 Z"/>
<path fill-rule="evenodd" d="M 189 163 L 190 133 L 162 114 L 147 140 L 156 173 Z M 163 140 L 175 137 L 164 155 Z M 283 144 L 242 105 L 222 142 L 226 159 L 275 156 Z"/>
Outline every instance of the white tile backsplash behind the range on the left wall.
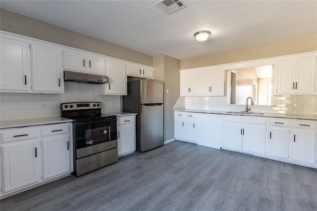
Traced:
<path fill-rule="evenodd" d="M 120 111 L 120 96 L 98 95 L 95 84 L 65 82 L 63 94 L 1 93 L 0 120 L 60 117 L 60 103 L 80 101 L 102 102 L 103 113 Z M 41 110 L 42 102 L 46 110 Z"/>

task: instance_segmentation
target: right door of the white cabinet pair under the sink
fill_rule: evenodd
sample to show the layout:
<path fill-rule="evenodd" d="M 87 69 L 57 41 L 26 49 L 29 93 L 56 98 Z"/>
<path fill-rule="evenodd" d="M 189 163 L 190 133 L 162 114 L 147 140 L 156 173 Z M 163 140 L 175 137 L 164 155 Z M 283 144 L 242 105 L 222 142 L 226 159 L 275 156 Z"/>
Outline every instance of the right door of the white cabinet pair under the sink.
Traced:
<path fill-rule="evenodd" d="M 244 126 L 242 129 L 242 150 L 257 154 L 265 154 L 264 126 Z"/>

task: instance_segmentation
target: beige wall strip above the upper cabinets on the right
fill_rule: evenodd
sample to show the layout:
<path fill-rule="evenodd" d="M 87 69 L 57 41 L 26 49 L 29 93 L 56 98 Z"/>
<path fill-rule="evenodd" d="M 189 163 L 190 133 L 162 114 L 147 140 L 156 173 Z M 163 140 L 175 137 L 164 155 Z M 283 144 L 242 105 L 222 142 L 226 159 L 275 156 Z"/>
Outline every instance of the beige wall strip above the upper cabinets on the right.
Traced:
<path fill-rule="evenodd" d="M 181 69 L 317 51 L 317 35 L 181 60 Z"/>

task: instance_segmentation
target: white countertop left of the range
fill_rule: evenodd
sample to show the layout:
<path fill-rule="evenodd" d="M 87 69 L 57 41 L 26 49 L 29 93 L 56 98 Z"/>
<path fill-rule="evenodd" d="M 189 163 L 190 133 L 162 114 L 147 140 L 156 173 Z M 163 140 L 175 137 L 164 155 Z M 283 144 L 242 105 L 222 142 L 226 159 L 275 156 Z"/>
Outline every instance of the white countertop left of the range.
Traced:
<path fill-rule="evenodd" d="M 37 125 L 47 125 L 55 123 L 66 123 L 73 122 L 73 120 L 66 119 L 63 117 L 48 117 L 48 118 L 38 118 L 38 119 L 26 119 L 26 120 L 8 120 L 0 121 L 0 129 L 10 128 L 10 127 L 26 127 L 26 126 L 37 126 Z"/>

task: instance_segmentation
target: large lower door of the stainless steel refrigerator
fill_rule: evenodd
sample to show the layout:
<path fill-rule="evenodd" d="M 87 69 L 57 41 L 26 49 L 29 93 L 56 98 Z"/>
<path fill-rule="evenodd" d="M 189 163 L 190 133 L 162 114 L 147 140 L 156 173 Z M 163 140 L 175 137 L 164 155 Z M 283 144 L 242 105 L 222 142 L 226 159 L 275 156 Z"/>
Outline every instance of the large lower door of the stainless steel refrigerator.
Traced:
<path fill-rule="evenodd" d="M 164 144 L 163 104 L 141 105 L 142 152 Z"/>

